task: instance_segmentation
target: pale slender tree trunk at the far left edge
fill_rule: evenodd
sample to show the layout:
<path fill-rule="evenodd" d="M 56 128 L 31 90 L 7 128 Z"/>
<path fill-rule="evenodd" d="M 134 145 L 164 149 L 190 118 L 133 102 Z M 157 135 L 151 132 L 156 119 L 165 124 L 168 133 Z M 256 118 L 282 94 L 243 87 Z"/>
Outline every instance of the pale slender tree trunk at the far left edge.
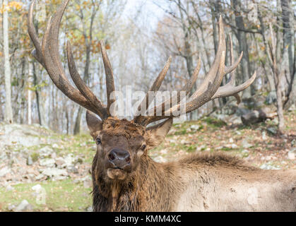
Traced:
<path fill-rule="evenodd" d="M 9 42 L 8 42 L 8 8 L 7 0 L 3 1 L 3 39 L 4 39 L 4 74 L 5 74 L 5 121 L 13 123 L 13 113 L 11 107 L 11 66 L 9 62 Z"/>

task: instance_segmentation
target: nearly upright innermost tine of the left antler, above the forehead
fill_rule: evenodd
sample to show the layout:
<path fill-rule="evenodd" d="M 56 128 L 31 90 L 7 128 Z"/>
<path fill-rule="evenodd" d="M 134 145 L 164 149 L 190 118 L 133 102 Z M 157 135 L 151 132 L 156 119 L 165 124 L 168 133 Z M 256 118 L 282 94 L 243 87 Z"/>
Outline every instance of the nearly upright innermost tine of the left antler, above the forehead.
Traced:
<path fill-rule="evenodd" d="M 104 62 L 105 67 L 105 75 L 106 75 L 106 88 L 107 88 L 107 114 L 110 114 L 110 106 L 115 100 L 111 99 L 111 93 L 114 92 L 114 76 L 112 67 L 107 55 L 107 51 L 105 49 L 105 43 L 103 40 L 100 40 L 100 47 L 101 47 L 101 53 L 102 53 L 102 60 Z"/>

